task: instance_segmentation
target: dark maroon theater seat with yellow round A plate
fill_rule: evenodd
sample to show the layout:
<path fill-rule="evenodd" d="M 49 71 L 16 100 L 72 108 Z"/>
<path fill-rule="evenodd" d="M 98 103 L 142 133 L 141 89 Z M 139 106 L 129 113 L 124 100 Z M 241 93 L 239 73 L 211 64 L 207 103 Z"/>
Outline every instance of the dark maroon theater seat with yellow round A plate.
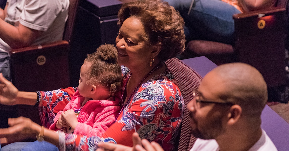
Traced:
<path fill-rule="evenodd" d="M 261 72 L 268 90 L 288 85 L 285 70 L 285 48 L 288 50 L 289 45 L 288 0 L 278 0 L 273 8 L 235 14 L 233 19 L 234 45 L 192 40 L 186 46 L 186 53 L 192 57 L 206 56 L 217 65 L 230 62 L 250 64 Z"/>

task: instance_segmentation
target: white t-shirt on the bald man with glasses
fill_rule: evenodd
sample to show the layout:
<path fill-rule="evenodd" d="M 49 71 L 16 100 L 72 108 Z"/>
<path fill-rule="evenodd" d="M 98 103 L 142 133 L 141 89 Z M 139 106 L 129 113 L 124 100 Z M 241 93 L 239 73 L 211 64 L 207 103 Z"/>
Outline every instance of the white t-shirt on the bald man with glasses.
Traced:
<path fill-rule="evenodd" d="M 204 140 L 197 139 L 190 151 L 219 151 L 219 145 L 214 139 Z M 248 151 L 277 151 L 275 145 L 268 137 L 266 132 L 262 130 L 260 139 Z"/>

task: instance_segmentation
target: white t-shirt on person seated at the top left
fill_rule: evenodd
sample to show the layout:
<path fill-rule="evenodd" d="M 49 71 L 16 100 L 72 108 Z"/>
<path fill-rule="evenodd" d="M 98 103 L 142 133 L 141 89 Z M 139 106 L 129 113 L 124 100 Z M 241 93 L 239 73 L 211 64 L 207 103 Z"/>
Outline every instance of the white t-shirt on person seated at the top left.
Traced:
<path fill-rule="evenodd" d="M 44 31 L 32 45 L 62 40 L 69 0 L 7 0 L 7 4 L 5 22 Z M 0 51 L 9 50 L 10 46 L 0 38 Z"/>

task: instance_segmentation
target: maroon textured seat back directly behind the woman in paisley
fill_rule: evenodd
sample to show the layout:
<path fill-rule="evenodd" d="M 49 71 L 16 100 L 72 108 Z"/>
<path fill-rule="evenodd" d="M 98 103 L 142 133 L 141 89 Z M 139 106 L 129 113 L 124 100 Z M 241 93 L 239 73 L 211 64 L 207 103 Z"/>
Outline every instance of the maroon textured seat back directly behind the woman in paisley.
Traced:
<path fill-rule="evenodd" d="M 195 70 L 177 58 L 168 59 L 165 64 L 177 79 L 179 89 L 184 98 L 185 110 L 181 124 L 179 143 L 176 143 L 176 147 L 179 151 L 187 151 L 192 148 L 196 138 L 192 136 L 190 115 L 186 106 L 188 102 L 193 99 L 192 91 L 199 87 L 202 77 Z"/>

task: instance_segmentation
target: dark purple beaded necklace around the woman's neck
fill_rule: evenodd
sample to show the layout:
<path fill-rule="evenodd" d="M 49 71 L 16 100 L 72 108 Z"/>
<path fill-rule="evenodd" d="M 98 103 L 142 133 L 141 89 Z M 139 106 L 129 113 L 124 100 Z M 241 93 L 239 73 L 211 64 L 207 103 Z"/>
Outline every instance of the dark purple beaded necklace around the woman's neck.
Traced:
<path fill-rule="evenodd" d="M 153 73 L 155 70 L 157 70 L 158 68 L 160 68 L 160 66 L 162 65 L 162 62 L 160 62 L 160 64 L 158 66 L 156 66 L 153 70 L 151 70 L 151 72 L 149 72 L 141 81 L 140 83 L 138 83 L 138 85 L 136 86 L 136 88 L 134 89 L 134 91 L 130 94 L 130 96 L 127 98 L 127 102 L 125 102 L 125 105 L 123 105 L 123 107 L 121 108 L 121 111 L 119 111 L 119 113 L 117 114 L 116 118 L 115 118 L 115 121 L 116 119 L 118 118 L 118 116 L 121 114 L 121 112 L 123 111 L 123 109 L 128 105 L 128 103 L 130 102 L 130 99 L 131 97 L 134 95 L 134 93 L 136 93 L 136 90 L 138 89 L 138 87 L 140 87 L 140 85 L 142 84 L 142 82 L 147 79 L 147 77 L 149 77 L 149 75 L 151 75 L 151 73 Z M 129 78 L 131 77 L 131 72 L 129 73 L 129 75 L 127 76 L 127 81 L 125 82 L 125 90 L 121 96 L 121 100 L 122 102 L 125 101 L 125 98 L 124 98 L 124 94 L 125 94 L 125 91 L 126 91 L 126 85 L 127 85 L 127 82 L 129 80 Z"/>

